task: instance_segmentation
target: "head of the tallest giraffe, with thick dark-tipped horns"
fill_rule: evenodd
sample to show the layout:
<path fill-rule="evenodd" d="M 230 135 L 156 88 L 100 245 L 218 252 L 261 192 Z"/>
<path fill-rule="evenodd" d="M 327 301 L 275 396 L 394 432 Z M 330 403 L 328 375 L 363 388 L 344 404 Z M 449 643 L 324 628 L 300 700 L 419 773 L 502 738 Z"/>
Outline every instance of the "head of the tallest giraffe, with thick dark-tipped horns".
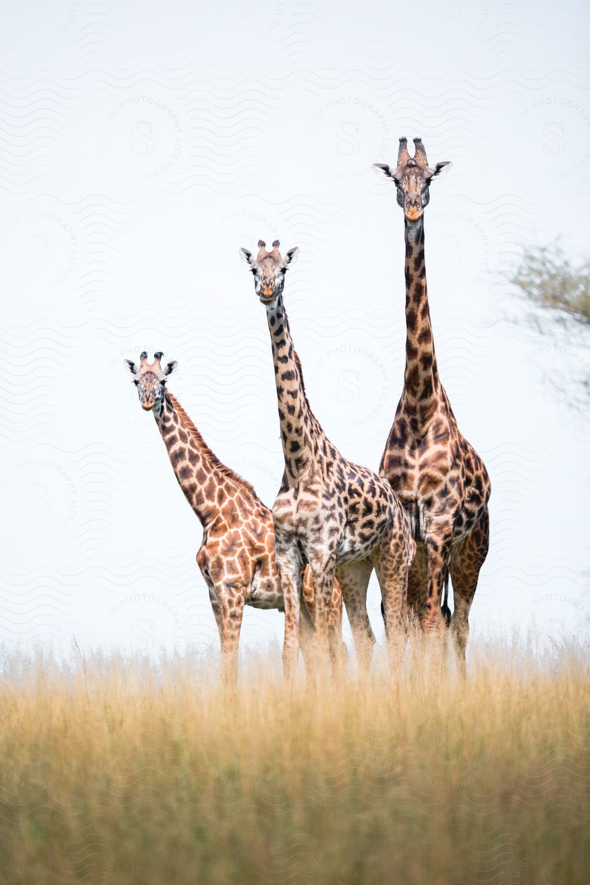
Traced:
<path fill-rule="evenodd" d="M 373 169 L 381 177 L 395 182 L 397 202 L 402 206 L 403 214 L 408 221 L 422 218 L 430 199 L 430 182 L 433 178 L 441 178 L 448 173 L 453 165 L 448 160 L 429 166 L 426 151 L 421 138 L 415 138 L 414 156 L 408 153 L 408 139 L 400 138 L 400 150 L 397 154 L 397 168 L 391 169 L 383 163 L 373 163 Z"/>

